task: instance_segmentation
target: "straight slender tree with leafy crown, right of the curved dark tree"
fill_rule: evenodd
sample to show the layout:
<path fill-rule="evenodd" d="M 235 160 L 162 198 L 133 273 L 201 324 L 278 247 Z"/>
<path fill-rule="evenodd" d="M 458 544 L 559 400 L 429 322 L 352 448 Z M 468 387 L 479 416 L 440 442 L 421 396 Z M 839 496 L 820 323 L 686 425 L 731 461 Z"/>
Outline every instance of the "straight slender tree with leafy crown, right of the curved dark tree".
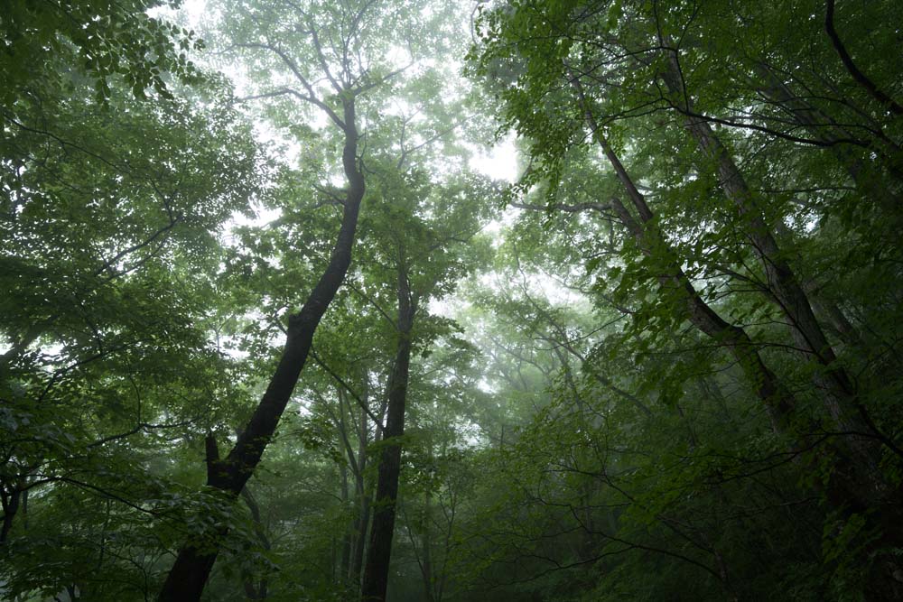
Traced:
<path fill-rule="evenodd" d="M 479 259 L 466 246 L 487 214 L 487 208 L 479 206 L 481 193 L 486 190 L 480 179 L 464 174 L 433 183 L 424 181 L 424 176 L 414 171 L 397 178 L 389 172 L 382 182 L 386 200 L 395 201 L 389 206 L 389 221 L 384 222 L 377 246 L 379 255 L 385 257 L 382 261 L 396 273 L 396 351 L 386 383 L 386 422 L 361 588 L 364 600 L 386 599 L 411 356 L 414 346 L 424 346 L 431 336 L 431 329 L 422 323 L 429 319 L 424 305 L 452 291 L 455 282 L 473 266 L 464 264 L 465 257 L 471 262 Z"/>

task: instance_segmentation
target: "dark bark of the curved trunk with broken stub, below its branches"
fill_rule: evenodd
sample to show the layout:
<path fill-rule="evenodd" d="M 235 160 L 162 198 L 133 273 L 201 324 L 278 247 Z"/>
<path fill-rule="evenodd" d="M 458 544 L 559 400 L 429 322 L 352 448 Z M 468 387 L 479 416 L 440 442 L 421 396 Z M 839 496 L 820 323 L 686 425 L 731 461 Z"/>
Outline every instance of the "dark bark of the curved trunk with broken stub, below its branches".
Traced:
<path fill-rule="evenodd" d="M 207 485 L 229 495 L 237 496 L 241 492 L 260 462 L 267 444 L 273 438 L 276 425 L 307 361 L 313 333 L 336 292 L 339 291 L 351 263 L 351 249 L 358 227 L 358 211 L 360 201 L 364 197 L 365 184 L 363 174 L 358 169 L 358 131 L 355 126 L 354 97 L 347 97 L 343 103 L 345 144 L 342 149 L 342 166 L 348 180 L 348 189 L 339 235 L 330 255 L 330 263 L 319 282 L 314 286 L 302 309 L 289 317 L 283 354 L 276 366 L 275 374 L 266 387 L 263 399 L 241 431 L 228 456 L 217 460 L 210 467 Z M 160 602 L 200 600 L 217 554 L 218 551 L 201 551 L 191 543 L 182 546 L 163 584 Z"/>

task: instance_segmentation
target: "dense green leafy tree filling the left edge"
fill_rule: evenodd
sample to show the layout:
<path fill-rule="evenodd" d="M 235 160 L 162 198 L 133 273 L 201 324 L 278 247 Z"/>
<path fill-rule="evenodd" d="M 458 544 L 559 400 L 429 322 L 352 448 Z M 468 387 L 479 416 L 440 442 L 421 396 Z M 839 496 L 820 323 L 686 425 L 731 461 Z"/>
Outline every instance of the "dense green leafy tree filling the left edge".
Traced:
<path fill-rule="evenodd" d="M 159 548 L 139 543 L 140 525 L 171 515 L 177 488 L 154 446 L 191 438 L 220 395 L 240 396 L 208 338 L 208 274 L 263 165 L 217 79 L 186 91 L 160 70 L 191 71 L 172 26 L 145 5 L 107 20 L 93 3 L 64 8 L 5 7 L 4 27 L 22 29 L 3 62 L 4 581 L 15 595 L 146 595 Z M 135 542 L 111 542 L 102 524 Z"/>

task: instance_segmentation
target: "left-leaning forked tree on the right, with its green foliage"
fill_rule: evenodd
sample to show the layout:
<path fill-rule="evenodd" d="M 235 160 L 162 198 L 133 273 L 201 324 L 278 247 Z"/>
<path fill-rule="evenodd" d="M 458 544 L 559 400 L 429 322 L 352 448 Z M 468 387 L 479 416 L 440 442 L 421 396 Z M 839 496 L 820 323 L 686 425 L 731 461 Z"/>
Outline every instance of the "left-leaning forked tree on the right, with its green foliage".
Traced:
<path fill-rule="evenodd" d="M 824 136 L 802 140 L 775 129 L 764 120 L 768 119 L 764 111 L 741 118 L 722 117 L 735 111 L 730 104 L 725 106 L 723 97 L 712 96 L 704 109 L 695 105 L 694 89 L 688 87 L 687 77 L 709 84 L 711 80 L 705 78 L 714 68 L 703 62 L 711 60 L 718 68 L 723 64 L 723 69 L 735 72 L 737 68 L 719 62 L 724 56 L 718 54 L 720 37 L 714 36 L 712 43 L 703 42 L 704 35 L 712 30 L 703 30 L 697 23 L 705 21 L 703 15 L 710 14 L 709 8 L 675 5 L 666 9 L 656 3 L 565 3 L 531 5 L 523 10 L 501 7 L 483 14 L 479 29 L 483 45 L 473 57 L 479 61 L 479 74 L 507 79 L 508 88 L 499 94 L 505 101 L 508 124 L 530 139 L 534 162 L 523 189 L 549 179 L 550 211 L 595 211 L 620 222 L 634 239 L 634 245 L 625 245 L 625 250 L 638 251 L 644 259 L 625 260 L 628 267 L 636 267 L 623 273 L 619 288 L 626 291 L 633 287 L 638 295 L 634 300 L 644 304 L 644 297 L 653 293 L 660 303 L 657 309 L 638 314 L 637 330 L 661 337 L 666 329 L 680 329 L 686 320 L 726 348 L 747 375 L 749 385 L 757 390 L 775 431 L 788 438 L 791 453 L 811 453 L 829 467 L 825 469 L 830 477 L 815 486 L 833 507 L 834 514 L 827 520 L 839 520 L 858 530 L 862 518 L 871 516 L 865 521 L 870 524 L 870 533 L 880 533 L 880 543 L 867 546 L 866 553 L 878 558 L 898 545 L 896 529 L 891 526 L 898 522 L 893 518 L 898 493 L 895 477 L 881 474 L 876 462 L 883 457 L 896 463 L 898 444 L 890 431 L 875 421 L 873 412 L 877 409 L 862 403 L 869 394 L 852 384 L 816 318 L 813 308 L 824 310 L 824 305 L 812 301 L 812 294 L 805 291 L 805 279 L 798 275 L 805 267 L 791 264 L 794 254 L 787 251 L 787 245 L 794 244 L 793 236 L 781 224 L 792 213 L 791 208 L 784 199 L 769 202 L 767 195 L 753 192 L 759 187 L 748 183 L 752 174 L 740 172 L 739 162 L 712 124 L 753 131 L 749 136 L 731 138 L 735 153 L 755 151 L 759 133 L 763 134 L 763 144 L 773 144 L 777 139 L 779 144 L 787 144 L 787 151 L 794 145 L 831 147 L 833 142 L 821 144 Z M 724 19 L 719 10 L 712 8 L 712 16 Z M 697 16 L 700 22 L 696 22 Z M 703 31 L 706 34 L 701 35 Z M 749 41 L 749 46 L 754 49 L 749 54 L 759 52 L 755 42 Z M 748 73 L 753 81 L 762 75 L 755 67 L 749 67 Z M 723 80 L 711 83 L 719 86 Z M 540 97 L 542 110 L 537 111 L 536 99 Z M 798 106 L 791 110 L 798 112 Z M 650 144 L 648 136 L 638 135 L 639 127 L 655 127 L 663 140 Z M 880 131 L 886 127 L 882 125 Z M 571 177 L 571 164 L 575 157 L 584 156 L 586 152 L 580 149 L 588 143 L 598 145 L 601 157 L 610 164 L 609 177 L 618 186 L 605 185 L 589 203 L 561 201 L 562 182 Z M 695 156 L 689 144 L 695 144 Z M 676 177 L 663 170 L 666 155 L 662 151 L 666 149 L 676 150 L 678 162 L 666 168 Z M 877 169 L 885 169 L 884 174 L 892 181 L 893 153 L 879 156 L 882 154 L 887 162 Z M 586 156 L 593 161 L 591 154 Z M 629 156 L 639 167 L 625 167 L 622 156 Z M 837 156 L 834 153 L 832 159 Z M 852 154 L 846 152 L 840 158 L 853 161 Z M 785 170 L 782 176 L 796 176 L 780 161 L 777 153 L 762 158 L 763 163 L 768 162 L 765 169 L 778 165 L 777 169 Z M 846 164 L 850 167 L 852 163 Z M 685 171 L 675 171 L 675 167 Z M 755 177 L 759 177 L 758 172 Z M 641 188 L 650 194 L 644 194 Z M 734 205 L 734 212 L 715 202 L 719 188 Z M 696 223 L 703 227 L 695 228 L 696 232 L 689 226 L 694 205 L 688 199 L 693 197 L 681 196 L 684 190 L 717 211 L 713 218 L 700 217 Z M 621 202 L 621 195 L 627 203 Z M 647 197 L 655 197 L 657 208 Z M 699 242 L 686 244 L 690 236 L 698 236 Z M 750 263 L 752 260 L 759 265 Z M 656 282 L 657 290 L 628 277 Z M 718 292 L 703 278 L 716 278 L 715 282 L 725 282 L 727 287 Z M 768 366 L 762 343 L 749 336 L 751 325 L 725 320 L 718 306 L 709 301 L 740 298 L 741 284 L 751 285 L 755 294 L 774 303 L 770 308 L 759 305 L 754 312 L 763 311 L 773 316 L 772 320 L 788 323 L 792 342 L 784 345 L 809 358 L 808 371 L 778 375 Z M 719 302 L 722 304 L 724 301 Z M 842 318 L 837 310 L 825 313 Z M 832 321 L 846 329 L 843 320 Z M 776 334 L 786 337 L 778 333 L 769 333 L 769 337 Z M 809 389 L 802 394 L 791 393 L 785 380 L 793 379 L 798 387 L 798 378 L 804 375 L 812 379 Z M 812 412 L 811 399 L 821 400 L 821 412 Z M 877 551 L 881 548 L 885 551 Z M 867 588 L 871 595 L 889 599 L 897 595 L 898 586 L 889 577 L 896 570 L 895 562 L 888 556 L 883 558 L 873 564 L 875 577 Z"/>

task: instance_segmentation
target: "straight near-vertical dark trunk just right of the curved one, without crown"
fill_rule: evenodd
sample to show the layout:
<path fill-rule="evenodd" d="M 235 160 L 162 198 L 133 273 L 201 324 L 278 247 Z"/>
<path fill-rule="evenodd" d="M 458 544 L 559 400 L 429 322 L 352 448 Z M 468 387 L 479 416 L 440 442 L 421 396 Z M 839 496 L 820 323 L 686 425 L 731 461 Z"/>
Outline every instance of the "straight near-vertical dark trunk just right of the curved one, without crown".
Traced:
<path fill-rule="evenodd" d="M 405 434 L 405 402 L 407 399 L 408 370 L 411 364 L 411 329 L 414 326 L 416 306 L 411 298 L 410 282 L 404 260 L 398 266 L 398 343 L 395 366 L 389 376 L 386 428 L 383 431 L 383 447 L 379 458 L 377 495 L 373 504 L 373 524 L 361 599 L 365 602 L 383 602 L 388 585 L 389 560 L 392 554 L 392 536 L 395 532 L 398 475 L 401 472 L 401 443 Z"/>

